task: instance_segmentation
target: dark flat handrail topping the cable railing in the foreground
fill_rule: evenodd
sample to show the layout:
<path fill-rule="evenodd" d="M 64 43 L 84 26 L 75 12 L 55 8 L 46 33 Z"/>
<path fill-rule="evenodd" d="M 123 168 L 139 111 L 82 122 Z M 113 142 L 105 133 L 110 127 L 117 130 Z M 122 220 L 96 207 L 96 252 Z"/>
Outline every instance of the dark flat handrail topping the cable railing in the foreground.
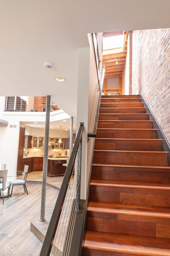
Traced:
<path fill-rule="evenodd" d="M 50 220 L 50 223 L 49 223 L 49 226 L 48 226 L 45 238 L 44 238 L 43 246 L 40 251 L 40 256 L 49 256 L 50 255 L 50 251 L 52 249 L 54 237 L 55 237 L 56 230 L 57 230 L 57 225 L 58 225 L 58 222 L 60 219 L 63 203 L 65 200 L 66 192 L 69 187 L 71 173 L 74 168 L 74 162 L 75 162 L 76 155 L 79 150 L 79 145 L 80 145 L 80 142 L 82 139 L 83 127 L 84 127 L 84 123 L 80 123 L 79 131 L 78 131 L 75 143 L 74 143 L 74 147 L 73 147 L 70 159 L 69 159 L 69 163 L 67 165 L 67 169 L 65 171 L 65 175 L 63 178 L 63 182 L 62 182 L 59 194 L 58 194 L 58 198 L 57 198 L 56 204 L 54 206 L 52 217 L 51 217 L 51 220 Z M 78 203 L 80 205 L 80 202 L 78 202 Z"/>

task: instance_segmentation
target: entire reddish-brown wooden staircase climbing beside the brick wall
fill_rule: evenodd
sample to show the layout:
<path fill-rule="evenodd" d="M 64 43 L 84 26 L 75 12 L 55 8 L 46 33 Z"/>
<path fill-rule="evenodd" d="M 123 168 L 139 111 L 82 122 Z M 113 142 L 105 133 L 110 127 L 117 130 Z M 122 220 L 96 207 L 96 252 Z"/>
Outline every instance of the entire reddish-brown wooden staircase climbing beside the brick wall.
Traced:
<path fill-rule="evenodd" d="M 168 153 L 139 95 L 104 95 L 84 256 L 170 255 Z"/>

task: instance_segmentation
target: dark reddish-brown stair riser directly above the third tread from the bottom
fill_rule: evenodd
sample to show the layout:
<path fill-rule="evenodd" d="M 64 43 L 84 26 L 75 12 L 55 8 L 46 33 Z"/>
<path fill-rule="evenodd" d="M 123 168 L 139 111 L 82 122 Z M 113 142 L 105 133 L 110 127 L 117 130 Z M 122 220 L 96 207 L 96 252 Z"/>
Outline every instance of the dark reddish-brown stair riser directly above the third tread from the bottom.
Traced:
<path fill-rule="evenodd" d="M 164 172 L 160 169 L 140 168 L 140 167 L 110 167 L 93 166 L 93 179 L 132 181 L 132 182 L 154 182 L 169 183 L 170 170 Z"/>

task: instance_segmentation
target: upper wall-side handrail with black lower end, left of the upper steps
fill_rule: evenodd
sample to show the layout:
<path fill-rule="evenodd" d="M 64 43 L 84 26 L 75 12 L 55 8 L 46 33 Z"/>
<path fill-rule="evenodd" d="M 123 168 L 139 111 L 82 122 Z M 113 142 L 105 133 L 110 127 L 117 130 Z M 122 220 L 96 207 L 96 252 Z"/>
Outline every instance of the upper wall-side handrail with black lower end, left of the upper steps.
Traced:
<path fill-rule="evenodd" d="M 99 110 L 100 110 L 100 101 L 101 101 L 101 93 L 102 93 L 102 89 L 103 89 L 103 82 L 104 82 L 104 73 L 105 73 L 105 69 L 102 69 L 102 77 L 101 77 L 101 85 L 100 85 L 100 93 L 99 93 L 99 99 L 98 99 L 98 103 L 97 103 L 97 109 L 96 109 L 96 117 L 95 117 L 95 122 L 94 122 L 94 127 L 93 127 L 93 132 L 92 133 L 88 133 L 87 137 L 96 137 L 96 132 L 97 132 L 97 122 L 99 119 Z"/>

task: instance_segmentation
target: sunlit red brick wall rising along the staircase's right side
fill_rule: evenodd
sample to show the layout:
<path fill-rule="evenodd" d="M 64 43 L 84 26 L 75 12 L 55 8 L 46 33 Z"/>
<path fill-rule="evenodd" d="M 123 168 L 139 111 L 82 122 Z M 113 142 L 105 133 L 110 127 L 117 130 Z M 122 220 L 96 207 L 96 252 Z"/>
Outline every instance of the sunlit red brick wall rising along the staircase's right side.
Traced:
<path fill-rule="evenodd" d="M 170 29 L 133 31 L 132 94 L 141 91 L 170 142 Z"/>

